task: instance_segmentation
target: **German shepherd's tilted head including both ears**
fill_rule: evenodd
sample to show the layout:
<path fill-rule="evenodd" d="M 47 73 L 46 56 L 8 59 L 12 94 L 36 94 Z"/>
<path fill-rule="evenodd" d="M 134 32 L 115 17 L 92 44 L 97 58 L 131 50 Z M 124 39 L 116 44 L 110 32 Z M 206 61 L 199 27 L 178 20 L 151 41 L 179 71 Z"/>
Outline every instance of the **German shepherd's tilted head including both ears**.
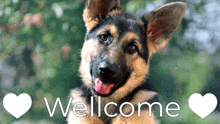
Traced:
<path fill-rule="evenodd" d="M 119 0 L 88 0 L 80 73 L 96 95 L 125 95 L 148 73 L 153 53 L 167 44 L 186 5 L 164 5 L 141 18 L 121 12 Z"/>

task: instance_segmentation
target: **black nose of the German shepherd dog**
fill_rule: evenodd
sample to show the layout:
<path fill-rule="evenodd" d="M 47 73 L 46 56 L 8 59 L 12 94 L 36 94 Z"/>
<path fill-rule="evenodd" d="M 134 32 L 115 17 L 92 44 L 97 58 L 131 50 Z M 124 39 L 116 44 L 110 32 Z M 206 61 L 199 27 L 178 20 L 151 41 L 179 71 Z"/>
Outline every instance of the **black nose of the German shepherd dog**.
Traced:
<path fill-rule="evenodd" d="M 113 64 L 109 62 L 101 62 L 99 64 L 99 74 L 104 78 L 112 77 L 116 73 L 116 69 Z"/>

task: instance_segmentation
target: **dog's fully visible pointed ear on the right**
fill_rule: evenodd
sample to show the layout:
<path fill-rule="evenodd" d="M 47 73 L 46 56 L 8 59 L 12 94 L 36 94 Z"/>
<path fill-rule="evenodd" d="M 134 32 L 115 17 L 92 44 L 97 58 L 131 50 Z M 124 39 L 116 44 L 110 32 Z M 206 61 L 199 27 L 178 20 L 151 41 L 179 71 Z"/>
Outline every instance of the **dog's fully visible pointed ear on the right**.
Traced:
<path fill-rule="evenodd" d="M 185 3 L 174 2 L 161 6 L 138 19 L 139 23 L 145 27 L 150 54 L 167 44 L 179 26 L 185 10 Z"/>

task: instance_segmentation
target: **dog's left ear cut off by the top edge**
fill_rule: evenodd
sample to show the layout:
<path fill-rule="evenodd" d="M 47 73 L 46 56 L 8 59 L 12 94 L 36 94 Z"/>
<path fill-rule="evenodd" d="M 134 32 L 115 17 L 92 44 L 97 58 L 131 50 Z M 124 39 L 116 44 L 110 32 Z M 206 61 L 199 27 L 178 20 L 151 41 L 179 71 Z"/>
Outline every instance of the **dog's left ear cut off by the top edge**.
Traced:
<path fill-rule="evenodd" d="M 83 12 L 83 19 L 87 27 L 87 31 L 104 19 L 108 14 L 115 10 L 120 13 L 120 0 L 87 0 L 86 7 Z"/>

